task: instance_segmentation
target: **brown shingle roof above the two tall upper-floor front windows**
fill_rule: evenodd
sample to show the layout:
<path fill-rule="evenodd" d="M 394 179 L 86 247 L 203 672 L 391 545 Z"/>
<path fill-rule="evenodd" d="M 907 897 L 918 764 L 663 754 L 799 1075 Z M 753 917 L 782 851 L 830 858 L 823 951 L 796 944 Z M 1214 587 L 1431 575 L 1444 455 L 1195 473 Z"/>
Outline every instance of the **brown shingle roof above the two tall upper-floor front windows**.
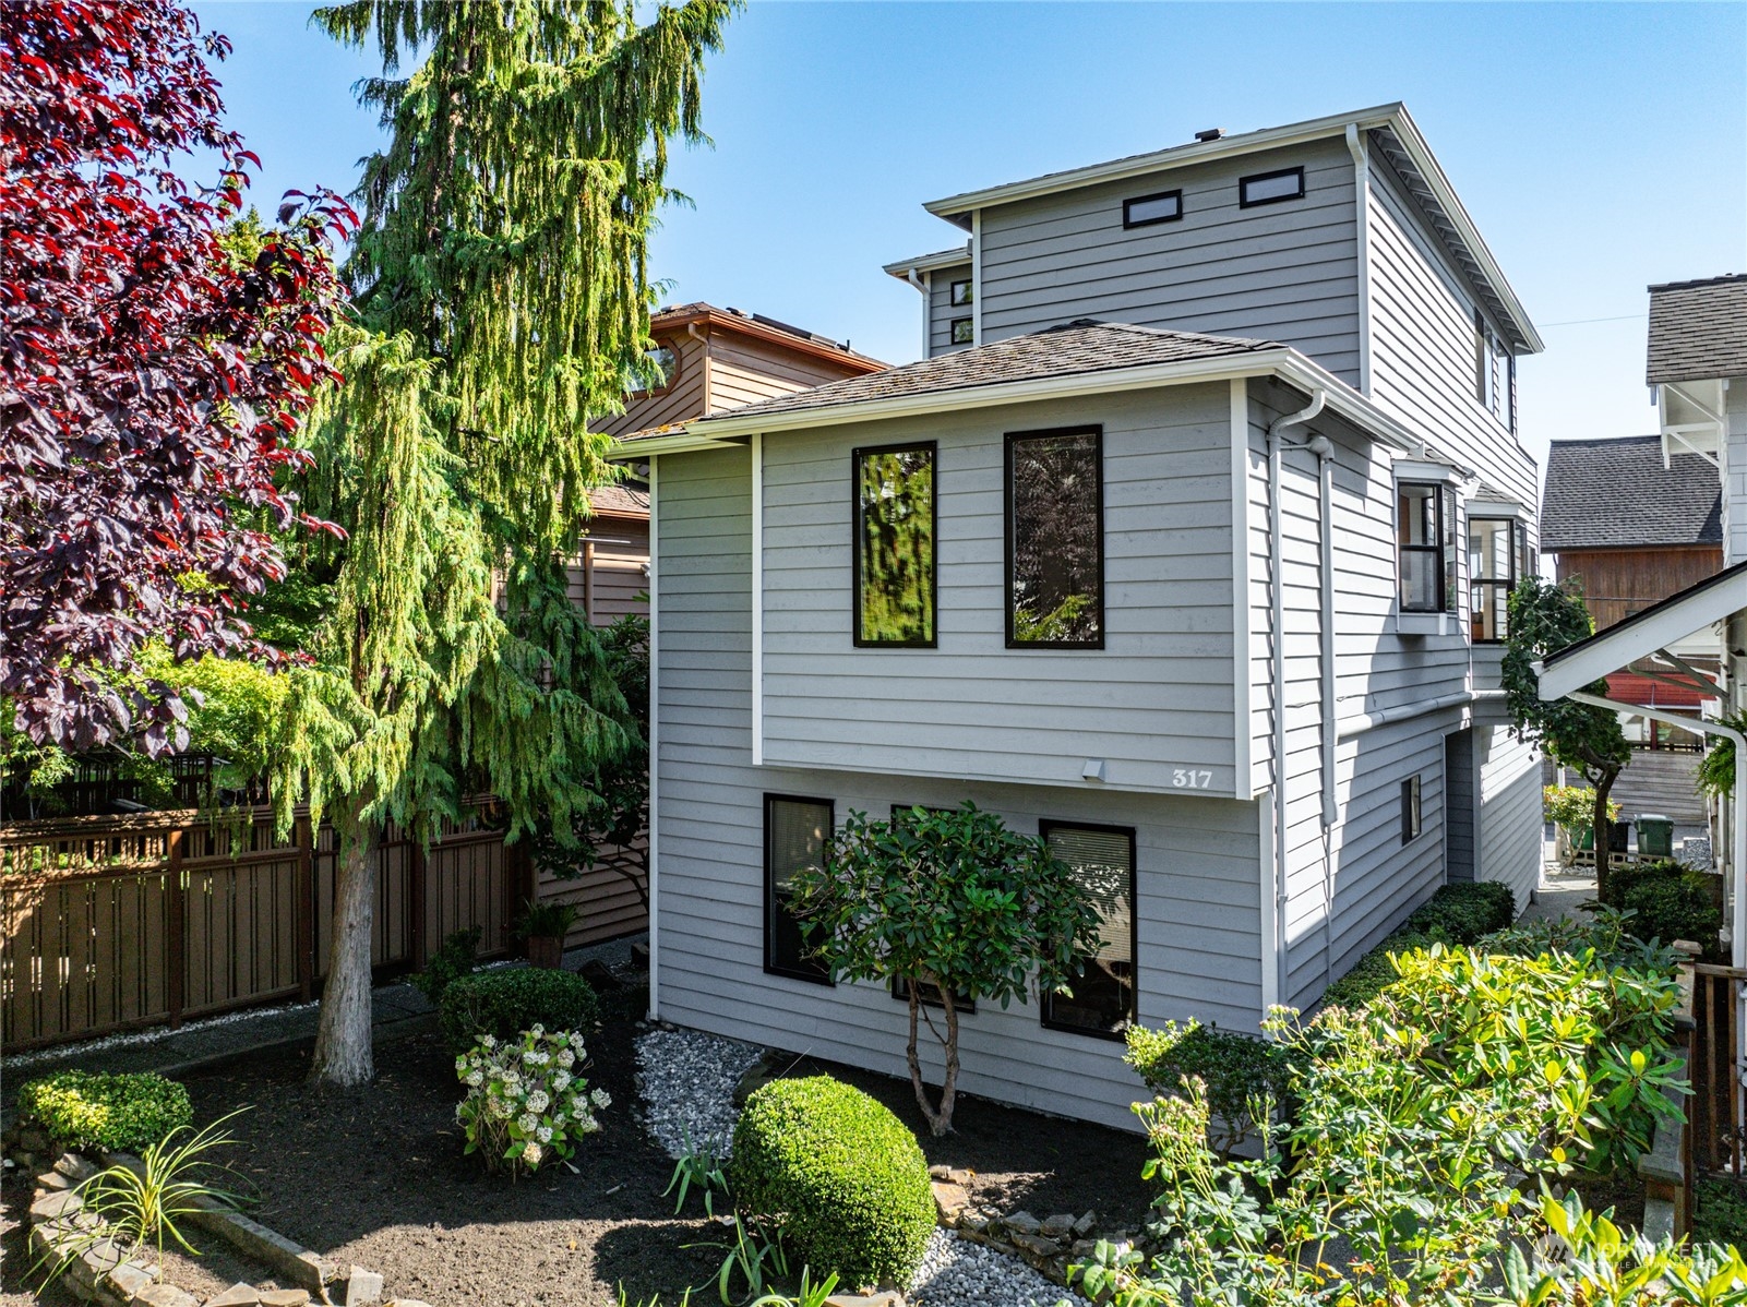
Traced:
<path fill-rule="evenodd" d="M 840 404 L 931 395 L 1010 381 L 1038 381 L 1081 372 L 1106 372 L 1150 363 L 1179 363 L 1197 358 L 1226 358 L 1261 349 L 1282 349 L 1274 341 L 1237 335 L 1202 335 L 1169 332 L 1155 327 L 1101 323 L 1090 318 L 1050 327 L 1031 335 L 1015 335 L 994 344 L 980 344 L 919 363 L 870 372 L 863 377 L 832 381 L 812 390 L 732 409 L 722 418 L 739 421 L 748 416 L 830 409 Z M 704 423 L 708 428 L 708 421 Z"/>

